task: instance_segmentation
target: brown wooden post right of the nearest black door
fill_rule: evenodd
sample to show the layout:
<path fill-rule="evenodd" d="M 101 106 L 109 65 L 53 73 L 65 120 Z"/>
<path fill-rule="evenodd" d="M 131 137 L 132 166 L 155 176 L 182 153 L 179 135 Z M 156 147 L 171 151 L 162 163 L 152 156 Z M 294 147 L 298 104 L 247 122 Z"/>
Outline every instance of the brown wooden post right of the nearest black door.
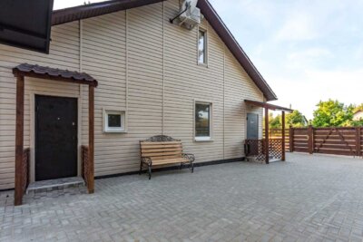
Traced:
<path fill-rule="evenodd" d="M 88 193 L 94 192 L 94 87 L 88 87 Z"/>

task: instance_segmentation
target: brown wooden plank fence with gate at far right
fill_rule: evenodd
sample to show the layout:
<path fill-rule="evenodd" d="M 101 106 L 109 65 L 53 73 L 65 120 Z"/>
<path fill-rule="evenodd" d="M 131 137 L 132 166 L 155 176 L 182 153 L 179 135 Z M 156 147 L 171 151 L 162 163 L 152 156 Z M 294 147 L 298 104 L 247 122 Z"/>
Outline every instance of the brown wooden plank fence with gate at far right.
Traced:
<path fill-rule="evenodd" d="M 348 155 L 363 154 L 363 127 L 290 128 L 289 151 Z"/>

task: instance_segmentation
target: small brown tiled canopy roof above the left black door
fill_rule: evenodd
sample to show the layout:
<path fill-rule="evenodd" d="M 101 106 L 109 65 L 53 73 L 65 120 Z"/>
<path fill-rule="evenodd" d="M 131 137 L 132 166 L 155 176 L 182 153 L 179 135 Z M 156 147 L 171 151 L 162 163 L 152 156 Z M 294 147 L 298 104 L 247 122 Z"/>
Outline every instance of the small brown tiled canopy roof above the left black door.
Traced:
<path fill-rule="evenodd" d="M 87 73 L 77 73 L 58 68 L 39 66 L 37 64 L 22 63 L 13 68 L 15 76 L 28 76 L 34 78 L 49 79 L 53 81 L 74 82 L 97 86 L 97 81 Z"/>

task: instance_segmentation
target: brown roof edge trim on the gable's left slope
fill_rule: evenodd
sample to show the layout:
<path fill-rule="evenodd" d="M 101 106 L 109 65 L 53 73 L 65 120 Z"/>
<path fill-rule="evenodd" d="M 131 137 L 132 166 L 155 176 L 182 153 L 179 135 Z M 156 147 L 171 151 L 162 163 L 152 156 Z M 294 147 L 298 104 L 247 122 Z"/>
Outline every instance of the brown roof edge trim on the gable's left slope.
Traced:
<path fill-rule="evenodd" d="M 76 20 L 107 15 L 142 5 L 152 5 L 164 0 L 113 0 L 91 5 L 79 5 L 53 11 L 52 25 L 64 24 Z"/>

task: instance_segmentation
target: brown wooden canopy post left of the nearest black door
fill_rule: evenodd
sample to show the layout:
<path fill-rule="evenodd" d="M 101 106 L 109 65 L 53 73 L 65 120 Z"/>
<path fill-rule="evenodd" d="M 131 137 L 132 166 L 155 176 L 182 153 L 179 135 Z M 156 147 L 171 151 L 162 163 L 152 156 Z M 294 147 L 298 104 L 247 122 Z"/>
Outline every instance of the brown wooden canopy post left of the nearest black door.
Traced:
<path fill-rule="evenodd" d="M 15 206 L 23 203 L 24 158 L 24 76 L 16 75 L 16 126 L 15 126 Z"/>

